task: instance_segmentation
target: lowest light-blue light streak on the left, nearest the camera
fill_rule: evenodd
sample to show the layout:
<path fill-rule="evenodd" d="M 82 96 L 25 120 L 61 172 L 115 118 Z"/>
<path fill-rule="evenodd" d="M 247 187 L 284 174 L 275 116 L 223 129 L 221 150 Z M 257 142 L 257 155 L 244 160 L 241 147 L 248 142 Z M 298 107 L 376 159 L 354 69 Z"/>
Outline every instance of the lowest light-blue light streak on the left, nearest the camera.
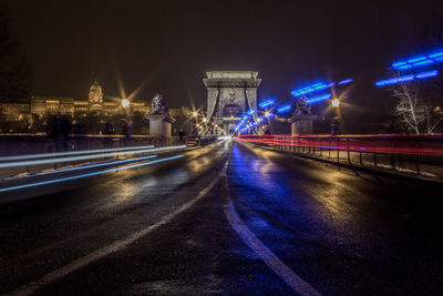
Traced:
<path fill-rule="evenodd" d="M 0 192 L 9 192 L 9 191 L 41 186 L 41 185 L 54 184 L 54 183 L 60 183 L 60 182 L 66 182 L 66 181 L 72 181 L 72 180 L 78 180 L 78 178 L 83 178 L 83 177 L 89 177 L 89 176 L 102 175 L 102 174 L 106 174 L 106 173 L 113 173 L 113 172 L 124 171 L 124 170 L 128 170 L 128 169 L 151 165 L 151 164 L 155 164 L 155 163 L 172 161 L 172 160 L 181 159 L 183 156 L 184 155 L 176 155 L 176 156 L 161 159 L 161 160 L 156 160 L 156 161 L 152 161 L 152 162 L 137 163 L 137 164 L 132 164 L 132 165 L 127 165 L 127 166 L 123 166 L 123 167 L 104 170 L 104 171 L 100 171 L 100 172 L 93 172 L 93 173 L 87 173 L 87 174 L 82 174 L 82 175 L 75 175 L 75 176 L 35 182 L 35 183 L 30 183 L 30 184 L 23 184 L 23 185 L 18 185 L 18 186 L 11 186 L 11 187 L 6 187 L 6 188 L 0 188 Z"/>

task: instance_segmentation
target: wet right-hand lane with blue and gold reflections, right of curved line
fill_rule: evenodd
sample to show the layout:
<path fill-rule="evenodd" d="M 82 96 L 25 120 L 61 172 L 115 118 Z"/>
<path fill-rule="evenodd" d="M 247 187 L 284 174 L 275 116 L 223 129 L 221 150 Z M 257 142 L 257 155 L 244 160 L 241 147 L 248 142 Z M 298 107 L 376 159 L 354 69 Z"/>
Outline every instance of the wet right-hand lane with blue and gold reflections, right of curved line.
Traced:
<path fill-rule="evenodd" d="M 243 145 L 228 180 L 250 229 L 322 294 L 441 293 L 441 186 Z"/>

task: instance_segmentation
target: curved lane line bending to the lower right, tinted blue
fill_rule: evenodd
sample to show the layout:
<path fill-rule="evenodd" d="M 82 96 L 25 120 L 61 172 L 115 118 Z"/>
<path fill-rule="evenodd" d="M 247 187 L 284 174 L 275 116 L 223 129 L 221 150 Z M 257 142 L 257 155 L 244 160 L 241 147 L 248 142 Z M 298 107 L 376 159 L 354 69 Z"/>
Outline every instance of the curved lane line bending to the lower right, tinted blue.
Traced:
<path fill-rule="evenodd" d="M 227 177 L 225 176 L 225 186 L 228 201 L 224 203 L 225 216 L 230 226 L 240 236 L 258 257 L 260 257 L 279 277 L 281 277 L 299 295 L 321 295 L 300 276 L 293 273 L 285 263 L 282 263 L 264 243 L 246 226 L 238 216 L 237 211 L 230 200 Z"/>

